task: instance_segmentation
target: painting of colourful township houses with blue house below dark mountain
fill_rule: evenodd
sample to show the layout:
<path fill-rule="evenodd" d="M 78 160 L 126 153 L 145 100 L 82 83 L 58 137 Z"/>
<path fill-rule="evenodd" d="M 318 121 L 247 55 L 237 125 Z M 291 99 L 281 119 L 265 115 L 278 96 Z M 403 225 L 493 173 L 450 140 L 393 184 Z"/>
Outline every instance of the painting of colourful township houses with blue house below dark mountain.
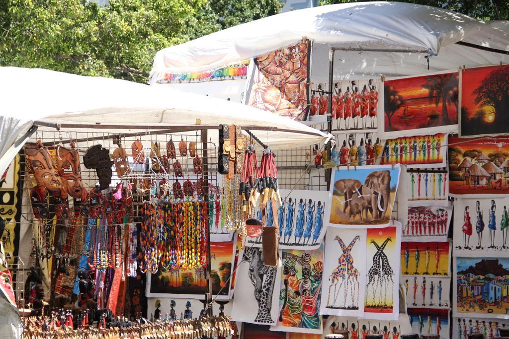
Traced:
<path fill-rule="evenodd" d="M 509 318 L 509 258 L 454 258 L 453 315 Z"/>

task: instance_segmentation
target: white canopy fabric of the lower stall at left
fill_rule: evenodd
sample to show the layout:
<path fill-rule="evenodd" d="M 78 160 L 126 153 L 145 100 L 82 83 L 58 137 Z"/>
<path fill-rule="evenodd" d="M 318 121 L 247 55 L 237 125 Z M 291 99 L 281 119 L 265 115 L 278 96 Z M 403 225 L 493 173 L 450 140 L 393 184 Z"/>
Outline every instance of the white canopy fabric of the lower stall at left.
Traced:
<path fill-rule="evenodd" d="M 124 80 L 15 67 L 0 67 L 0 79 L 0 173 L 24 143 L 18 140 L 36 120 L 149 125 L 157 130 L 158 126 L 195 125 L 196 119 L 201 119 L 201 125 L 236 124 L 296 131 L 254 132 L 273 149 L 320 143 L 328 137 L 297 121 L 253 107 Z M 144 130 L 124 128 L 115 133 L 129 131 Z M 11 155 L 9 159 L 4 157 L 6 152 Z"/>

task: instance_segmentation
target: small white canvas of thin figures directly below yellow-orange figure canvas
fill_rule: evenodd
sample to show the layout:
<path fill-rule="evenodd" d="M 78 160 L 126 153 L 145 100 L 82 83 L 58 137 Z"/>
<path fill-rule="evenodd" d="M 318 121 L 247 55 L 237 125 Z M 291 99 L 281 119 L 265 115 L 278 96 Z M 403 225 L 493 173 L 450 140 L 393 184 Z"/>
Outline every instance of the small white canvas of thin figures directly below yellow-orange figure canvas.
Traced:
<path fill-rule="evenodd" d="M 400 284 L 405 288 L 408 307 L 449 309 L 450 278 L 402 275 Z"/>

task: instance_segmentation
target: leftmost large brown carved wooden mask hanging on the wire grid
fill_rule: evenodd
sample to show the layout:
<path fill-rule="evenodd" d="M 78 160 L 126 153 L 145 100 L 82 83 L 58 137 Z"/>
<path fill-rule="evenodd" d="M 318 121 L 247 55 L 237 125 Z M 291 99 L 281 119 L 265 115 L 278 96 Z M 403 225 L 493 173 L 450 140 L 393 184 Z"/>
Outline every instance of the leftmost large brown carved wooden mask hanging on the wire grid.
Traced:
<path fill-rule="evenodd" d="M 67 198 L 67 191 L 64 189 L 62 179 L 53 167 L 51 156 L 46 147 L 38 144 L 38 146 L 27 146 L 25 148 L 26 159 L 32 166 L 37 187 L 41 190 L 43 196 L 46 191 L 58 192 L 62 199 Z"/>

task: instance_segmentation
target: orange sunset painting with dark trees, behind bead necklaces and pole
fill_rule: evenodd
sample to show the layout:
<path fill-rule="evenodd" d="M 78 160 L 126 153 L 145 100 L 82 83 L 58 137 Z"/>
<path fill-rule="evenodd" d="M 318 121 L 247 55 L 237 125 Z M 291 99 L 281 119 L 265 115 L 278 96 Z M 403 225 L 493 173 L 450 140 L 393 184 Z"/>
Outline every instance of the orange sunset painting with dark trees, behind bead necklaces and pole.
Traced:
<path fill-rule="evenodd" d="M 210 243 L 212 294 L 217 295 L 218 300 L 230 299 L 230 275 L 236 244 L 236 239 Z M 201 298 L 206 292 L 205 267 L 165 272 L 159 270 L 147 276 L 147 296 L 150 298 Z"/>

